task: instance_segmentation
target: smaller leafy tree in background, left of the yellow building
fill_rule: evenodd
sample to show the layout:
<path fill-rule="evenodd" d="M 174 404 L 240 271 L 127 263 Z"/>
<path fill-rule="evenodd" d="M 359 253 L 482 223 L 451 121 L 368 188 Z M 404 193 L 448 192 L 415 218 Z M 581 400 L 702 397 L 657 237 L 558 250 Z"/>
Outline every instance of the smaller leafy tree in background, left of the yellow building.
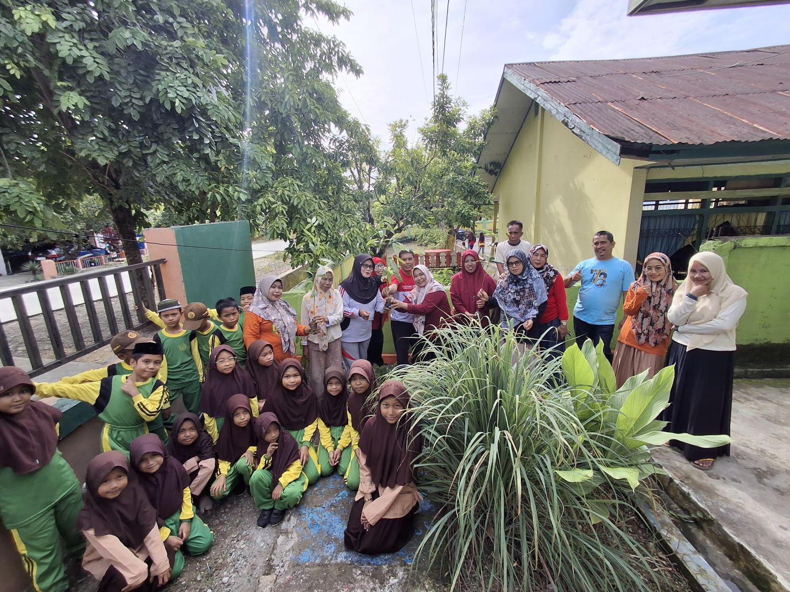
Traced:
<path fill-rule="evenodd" d="M 389 236 L 409 224 L 449 232 L 468 227 L 491 204 L 486 183 L 474 173 L 494 118 L 493 108 L 468 115 L 466 103 L 453 99 L 450 82 L 440 74 L 431 118 L 419 128 L 419 141 L 409 145 L 406 120 L 389 125 L 392 147 L 382 157 L 373 208 L 377 221 L 391 220 Z"/>

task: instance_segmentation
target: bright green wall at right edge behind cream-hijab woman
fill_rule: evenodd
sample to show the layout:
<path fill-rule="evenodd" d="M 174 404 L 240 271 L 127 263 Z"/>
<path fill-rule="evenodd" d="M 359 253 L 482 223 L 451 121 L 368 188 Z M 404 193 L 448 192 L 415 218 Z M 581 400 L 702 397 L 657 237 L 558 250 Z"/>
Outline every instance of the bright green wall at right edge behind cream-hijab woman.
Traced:
<path fill-rule="evenodd" d="M 790 237 L 709 241 L 700 250 L 719 254 L 732 281 L 749 293 L 738 324 L 738 345 L 790 343 Z"/>

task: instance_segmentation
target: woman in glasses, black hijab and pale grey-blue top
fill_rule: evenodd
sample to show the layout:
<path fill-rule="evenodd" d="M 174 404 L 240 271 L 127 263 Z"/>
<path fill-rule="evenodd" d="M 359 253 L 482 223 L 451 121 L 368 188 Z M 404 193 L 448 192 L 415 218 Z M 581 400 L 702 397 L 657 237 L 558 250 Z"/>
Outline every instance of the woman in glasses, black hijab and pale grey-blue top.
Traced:
<path fill-rule="evenodd" d="M 340 294 L 343 296 L 343 322 L 340 323 L 343 335 L 340 344 L 347 371 L 355 360 L 367 358 L 367 346 L 371 343 L 373 329 L 371 321 L 375 313 L 384 312 L 384 298 L 378 290 L 379 283 L 371 277 L 374 268 L 373 257 L 357 255 L 351 275 L 340 284 Z"/>

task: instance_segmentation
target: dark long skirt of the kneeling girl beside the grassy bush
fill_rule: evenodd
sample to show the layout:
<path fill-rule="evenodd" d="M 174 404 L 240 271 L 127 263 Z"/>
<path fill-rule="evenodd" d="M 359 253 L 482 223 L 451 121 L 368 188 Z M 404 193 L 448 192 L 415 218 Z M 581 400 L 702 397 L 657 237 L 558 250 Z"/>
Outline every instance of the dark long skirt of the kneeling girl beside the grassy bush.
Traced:
<path fill-rule="evenodd" d="M 374 494 L 374 497 L 378 497 Z M 365 507 L 364 498 L 354 502 L 351 514 L 348 515 L 344 543 L 346 549 L 365 555 L 378 555 L 378 553 L 397 553 L 404 548 L 414 534 L 415 505 L 407 515 L 402 518 L 382 518 L 370 530 L 362 526 L 362 510 Z"/>

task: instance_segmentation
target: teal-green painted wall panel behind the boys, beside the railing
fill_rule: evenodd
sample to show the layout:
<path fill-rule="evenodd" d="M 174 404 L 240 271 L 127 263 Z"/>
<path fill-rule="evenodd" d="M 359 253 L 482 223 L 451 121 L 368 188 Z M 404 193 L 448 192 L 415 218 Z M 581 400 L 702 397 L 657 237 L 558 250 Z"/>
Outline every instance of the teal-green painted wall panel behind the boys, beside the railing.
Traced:
<path fill-rule="evenodd" d="M 177 226 L 173 231 L 187 302 L 213 308 L 220 298 L 238 300 L 239 288 L 255 283 L 246 220 Z"/>

